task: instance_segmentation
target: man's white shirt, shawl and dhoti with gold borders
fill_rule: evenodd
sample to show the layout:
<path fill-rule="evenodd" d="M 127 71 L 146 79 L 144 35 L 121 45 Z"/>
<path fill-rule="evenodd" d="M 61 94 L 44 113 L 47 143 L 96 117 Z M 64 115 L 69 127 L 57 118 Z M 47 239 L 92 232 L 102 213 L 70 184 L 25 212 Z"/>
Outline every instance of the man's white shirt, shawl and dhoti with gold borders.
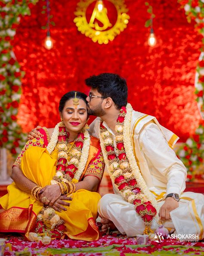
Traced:
<path fill-rule="evenodd" d="M 90 133 L 99 138 L 100 118 L 90 125 Z M 103 122 L 103 125 L 114 133 Z M 165 196 L 177 193 L 180 196 L 179 208 L 170 212 L 171 221 L 164 226 L 168 230 L 176 229 L 177 234 L 198 234 L 199 240 L 204 238 L 204 195 L 185 192 L 186 169 L 176 157 L 173 146 L 178 137 L 161 126 L 157 119 L 150 115 L 133 111 L 131 119 L 131 144 L 139 170 L 149 190 L 155 195 L 158 205 L 165 202 Z M 115 144 L 115 141 L 114 141 Z M 134 205 L 126 202 L 113 184 L 114 194 L 104 195 L 99 201 L 98 211 L 115 224 L 122 234 L 129 237 L 143 234 L 145 225 Z M 158 227 L 155 219 L 152 229 Z M 188 239 L 186 239 L 188 240 Z"/>

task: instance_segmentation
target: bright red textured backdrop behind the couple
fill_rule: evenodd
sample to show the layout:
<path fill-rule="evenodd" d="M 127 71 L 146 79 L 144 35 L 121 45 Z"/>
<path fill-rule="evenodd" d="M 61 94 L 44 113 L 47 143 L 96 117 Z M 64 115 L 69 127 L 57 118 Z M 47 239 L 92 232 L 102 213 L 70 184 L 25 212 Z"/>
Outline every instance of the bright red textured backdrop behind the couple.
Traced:
<path fill-rule="evenodd" d="M 144 1 L 126 0 L 127 29 L 108 45 L 93 43 L 73 22 L 78 0 L 51 0 L 52 50 L 43 47 L 46 15 L 43 2 L 31 6 L 13 41 L 15 55 L 26 72 L 22 79 L 19 124 L 30 131 L 37 124 L 53 127 L 59 121 L 58 102 L 69 90 L 88 93 L 84 79 L 114 72 L 127 79 L 133 108 L 155 115 L 158 121 L 185 141 L 201 120 L 195 102 L 195 69 L 201 36 L 186 21 L 176 1 L 152 1 L 157 45 L 147 45 L 149 19 Z"/>

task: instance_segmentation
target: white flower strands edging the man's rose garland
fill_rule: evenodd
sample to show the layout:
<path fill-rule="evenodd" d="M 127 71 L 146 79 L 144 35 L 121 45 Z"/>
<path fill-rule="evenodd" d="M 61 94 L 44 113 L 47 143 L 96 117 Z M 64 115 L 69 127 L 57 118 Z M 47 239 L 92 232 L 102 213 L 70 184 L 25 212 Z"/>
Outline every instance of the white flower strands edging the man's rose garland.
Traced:
<path fill-rule="evenodd" d="M 152 205 L 155 207 L 155 209 L 157 211 L 157 214 L 156 214 L 155 218 L 156 218 L 156 221 L 159 222 L 158 203 L 157 203 L 155 197 L 149 191 L 149 189 L 146 185 L 146 182 L 145 182 L 145 180 L 143 179 L 143 177 L 140 173 L 140 170 L 139 170 L 138 165 L 137 165 L 136 160 L 135 160 L 135 156 L 133 154 L 133 149 L 132 149 L 131 139 L 130 139 L 131 138 L 131 136 L 130 136 L 130 123 L 131 123 L 131 117 L 132 117 L 133 109 L 132 109 L 132 106 L 129 103 L 127 104 L 126 109 L 127 109 L 127 113 L 125 115 L 124 129 L 123 129 L 123 141 L 124 141 L 125 153 L 126 153 L 128 161 L 129 161 L 130 168 L 133 171 L 136 182 L 138 183 L 139 187 L 142 189 L 142 192 L 145 194 L 145 196 L 148 197 L 148 201 L 150 201 L 152 203 Z M 100 123 L 99 123 L 99 131 L 100 131 Z M 99 139 L 100 139 L 100 144 L 101 144 L 101 149 L 102 149 L 102 154 L 103 154 L 103 157 L 104 157 L 105 165 L 108 167 L 107 169 L 108 169 L 109 176 L 110 176 L 111 180 L 114 183 L 115 178 L 112 175 L 111 170 L 110 170 L 110 165 L 109 165 L 108 157 L 107 157 L 106 150 L 105 150 L 104 140 L 101 136 L 101 132 L 99 132 Z M 117 188 L 117 190 L 120 192 L 120 194 L 122 195 L 123 198 L 124 198 L 124 195 L 127 192 L 130 192 L 130 194 L 131 194 L 131 191 L 129 191 L 129 190 L 128 191 L 126 190 L 124 192 L 121 192 L 118 188 Z"/>

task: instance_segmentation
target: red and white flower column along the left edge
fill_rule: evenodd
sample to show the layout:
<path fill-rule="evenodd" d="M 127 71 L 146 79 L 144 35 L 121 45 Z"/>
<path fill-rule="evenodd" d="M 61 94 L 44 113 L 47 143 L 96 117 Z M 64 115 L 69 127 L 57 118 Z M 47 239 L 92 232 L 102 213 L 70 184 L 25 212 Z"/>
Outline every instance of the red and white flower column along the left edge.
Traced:
<path fill-rule="evenodd" d="M 21 79 L 24 72 L 12 51 L 11 41 L 19 25 L 20 16 L 30 15 L 29 1 L 1 1 L 0 31 L 0 147 L 4 147 L 15 155 L 21 152 L 27 141 L 27 134 L 22 133 L 17 124 L 17 113 L 21 97 Z"/>

